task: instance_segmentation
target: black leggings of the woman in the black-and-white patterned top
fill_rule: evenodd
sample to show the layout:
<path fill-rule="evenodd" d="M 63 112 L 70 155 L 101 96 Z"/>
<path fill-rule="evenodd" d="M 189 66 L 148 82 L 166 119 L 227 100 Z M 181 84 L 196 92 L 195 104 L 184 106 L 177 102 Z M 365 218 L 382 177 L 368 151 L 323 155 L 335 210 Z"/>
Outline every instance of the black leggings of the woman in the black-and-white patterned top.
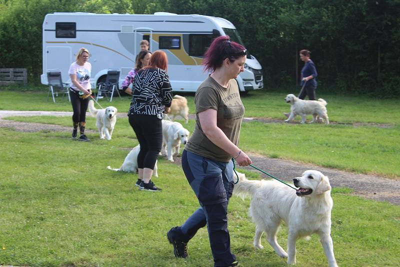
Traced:
<path fill-rule="evenodd" d="M 162 145 L 161 120 L 156 115 L 130 114 L 129 124 L 140 144 L 137 167 L 154 169 Z"/>

